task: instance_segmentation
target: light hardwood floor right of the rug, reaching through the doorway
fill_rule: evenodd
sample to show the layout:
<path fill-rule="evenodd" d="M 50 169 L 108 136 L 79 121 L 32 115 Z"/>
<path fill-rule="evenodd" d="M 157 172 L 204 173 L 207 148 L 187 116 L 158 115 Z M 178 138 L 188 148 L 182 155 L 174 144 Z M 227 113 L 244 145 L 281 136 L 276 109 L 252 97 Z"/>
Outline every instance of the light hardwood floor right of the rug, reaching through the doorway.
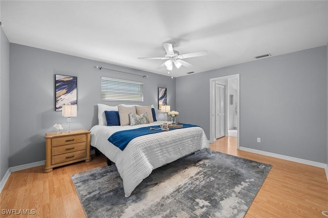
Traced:
<path fill-rule="evenodd" d="M 236 137 L 223 137 L 212 150 L 272 165 L 245 217 L 325 217 L 328 182 L 323 168 L 237 150 Z"/>

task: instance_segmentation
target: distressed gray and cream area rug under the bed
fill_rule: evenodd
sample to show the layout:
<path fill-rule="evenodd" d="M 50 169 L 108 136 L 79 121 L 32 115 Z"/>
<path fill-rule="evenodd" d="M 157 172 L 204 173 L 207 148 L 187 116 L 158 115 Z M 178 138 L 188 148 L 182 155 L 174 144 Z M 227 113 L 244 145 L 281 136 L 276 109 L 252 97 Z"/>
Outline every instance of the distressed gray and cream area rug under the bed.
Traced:
<path fill-rule="evenodd" d="M 270 164 L 196 152 L 155 169 L 129 198 L 116 166 L 72 175 L 87 217 L 243 217 Z"/>

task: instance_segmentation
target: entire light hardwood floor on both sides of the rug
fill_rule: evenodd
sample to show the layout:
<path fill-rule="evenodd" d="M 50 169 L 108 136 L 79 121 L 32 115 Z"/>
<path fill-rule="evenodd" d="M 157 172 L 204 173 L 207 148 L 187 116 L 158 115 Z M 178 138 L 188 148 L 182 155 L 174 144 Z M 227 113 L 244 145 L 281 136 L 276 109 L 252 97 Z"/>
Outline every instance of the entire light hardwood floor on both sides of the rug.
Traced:
<path fill-rule="evenodd" d="M 220 138 L 211 148 L 273 165 L 245 217 L 325 217 L 321 211 L 328 210 L 328 182 L 323 168 L 237 150 L 235 137 Z M 46 174 L 44 166 L 13 172 L 1 193 L 0 217 L 85 217 L 70 175 L 106 164 L 105 156 L 92 155 L 91 162 Z M 4 209 L 35 214 L 9 215 Z"/>

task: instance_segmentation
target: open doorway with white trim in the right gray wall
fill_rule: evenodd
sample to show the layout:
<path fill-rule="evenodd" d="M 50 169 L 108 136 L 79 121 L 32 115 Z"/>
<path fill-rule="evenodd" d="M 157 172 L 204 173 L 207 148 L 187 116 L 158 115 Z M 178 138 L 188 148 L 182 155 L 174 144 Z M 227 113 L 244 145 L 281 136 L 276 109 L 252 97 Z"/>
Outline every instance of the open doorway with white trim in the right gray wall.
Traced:
<path fill-rule="evenodd" d="M 235 83 L 234 92 L 228 89 L 230 82 Z M 229 136 L 230 130 L 230 135 L 237 137 L 237 149 L 239 149 L 239 74 L 210 79 L 210 90 L 210 143 L 219 137 Z M 223 98 L 221 98 L 222 94 Z M 220 98 L 217 98 L 218 95 Z M 230 119 L 228 119 L 229 114 Z M 233 132 L 236 135 L 233 135 Z"/>

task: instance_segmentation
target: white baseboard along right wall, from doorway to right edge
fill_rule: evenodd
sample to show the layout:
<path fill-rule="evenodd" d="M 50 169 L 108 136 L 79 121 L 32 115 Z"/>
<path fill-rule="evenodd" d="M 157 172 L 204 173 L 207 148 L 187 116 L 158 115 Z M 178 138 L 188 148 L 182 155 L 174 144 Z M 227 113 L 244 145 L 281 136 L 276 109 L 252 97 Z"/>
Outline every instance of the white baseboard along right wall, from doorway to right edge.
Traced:
<path fill-rule="evenodd" d="M 252 152 L 252 153 L 256 153 L 256 154 L 261 154 L 261 155 L 270 156 L 270 157 L 276 157 L 276 158 L 283 159 L 283 160 L 290 160 L 290 161 L 294 161 L 297 163 L 303 163 L 303 164 L 307 164 L 307 165 L 311 165 L 311 166 L 324 168 L 326 177 L 327 177 L 327 181 L 328 181 L 328 164 L 320 163 L 320 162 L 316 162 L 316 161 L 312 161 L 312 160 L 304 160 L 304 159 L 300 159 L 300 158 L 296 158 L 296 157 L 290 157 L 290 156 L 270 153 L 270 152 L 264 152 L 264 151 L 245 148 L 245 147 L 241 147 L 241 146 L 239 147 L 239 149 L 242 151 Z"/>

